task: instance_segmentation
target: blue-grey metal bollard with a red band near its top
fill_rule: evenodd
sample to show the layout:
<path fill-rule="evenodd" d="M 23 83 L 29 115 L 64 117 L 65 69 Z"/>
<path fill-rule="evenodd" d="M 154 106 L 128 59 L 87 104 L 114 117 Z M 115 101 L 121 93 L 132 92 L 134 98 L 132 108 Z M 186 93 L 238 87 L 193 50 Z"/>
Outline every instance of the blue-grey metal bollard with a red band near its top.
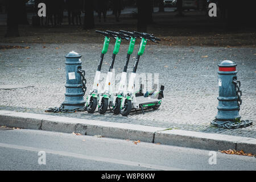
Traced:
<path fill-rule="evenodd" d="M 241 94 L 237 92 L 237 64 L 224 60 L 218 64 L 218 113 L 216 122 L 237 121 L 239 115 Z M 239 82 L 240 83 L 240 82 Z"/>

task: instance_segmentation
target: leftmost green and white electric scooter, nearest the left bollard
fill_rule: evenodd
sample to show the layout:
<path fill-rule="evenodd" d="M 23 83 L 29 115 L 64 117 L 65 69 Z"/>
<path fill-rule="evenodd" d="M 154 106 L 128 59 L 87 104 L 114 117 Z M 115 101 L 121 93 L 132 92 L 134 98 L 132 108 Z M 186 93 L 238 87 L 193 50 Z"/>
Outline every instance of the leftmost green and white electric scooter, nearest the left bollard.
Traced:
<path fill-rule="evenodd" d="M 86 108 L 88 113 L 94 113 L 98 104 L 98 97 L 101 92 L 101 86 L 100 86 L 101 65 L 102 65 L 105 53 L 108 52 L 110 37 L 112 36 L 108 32 L 103 32 L 98 30 L 96 30 L 96 32 L 104 35 L 105 39 L 104 39 L 104 44 L 101 51 L 100 62 L 98 64 L 96 75 L 94 77 L 93 88 L 92 90 L 90 90 L 89 95 L 86 98 L 87 99 Z"/>

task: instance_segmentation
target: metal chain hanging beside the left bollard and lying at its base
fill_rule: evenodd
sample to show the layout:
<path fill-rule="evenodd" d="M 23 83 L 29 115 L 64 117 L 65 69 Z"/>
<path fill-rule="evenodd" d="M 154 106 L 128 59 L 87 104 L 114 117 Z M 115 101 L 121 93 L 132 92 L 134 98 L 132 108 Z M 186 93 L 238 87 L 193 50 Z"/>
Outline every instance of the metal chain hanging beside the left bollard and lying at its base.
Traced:
<path fill-rule="evenodd" d="M 85 71 L 81 68 L 78 68 L 77 69 L 77 72 L 80 73 L 81 75 L 81 82 L 82 82 L 82 93 L 83 93 L 83 96 L 85 95 L 85 92 L 86 92 L 86 79 L 85 79 Z M 62 103 L 60 105 L 60 107 L 49 107 L 47 110 L 45 110 L 46 112 L 51 112 L 51 113 L 75 113 L 77 111 L 86 111 L 87 110 L 87 107 L 84 106 L 82 108 L 80 107 L 76 107 L 74 109 L 64 109 L 64 104 Z"/>

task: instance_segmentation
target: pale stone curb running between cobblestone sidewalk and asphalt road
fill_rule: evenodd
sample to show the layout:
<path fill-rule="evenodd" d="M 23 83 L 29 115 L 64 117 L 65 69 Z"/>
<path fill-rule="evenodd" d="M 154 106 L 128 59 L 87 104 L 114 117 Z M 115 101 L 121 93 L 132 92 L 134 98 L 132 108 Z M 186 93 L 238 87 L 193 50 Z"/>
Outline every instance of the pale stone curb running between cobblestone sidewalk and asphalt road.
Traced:
<path fill-rule="evenodd" d="M 74 132 L 82 135 L 101 135 L 108 138 L 141 140 L 142 142 L 204 150 L 228 150 L 230 148 L 256 154 L 256 139 L 254 138 L 186 130 L 168 130 L 161 127 L 57 117 L 47 114 L 0 110 L 0 126 L 63 133 Z"/>

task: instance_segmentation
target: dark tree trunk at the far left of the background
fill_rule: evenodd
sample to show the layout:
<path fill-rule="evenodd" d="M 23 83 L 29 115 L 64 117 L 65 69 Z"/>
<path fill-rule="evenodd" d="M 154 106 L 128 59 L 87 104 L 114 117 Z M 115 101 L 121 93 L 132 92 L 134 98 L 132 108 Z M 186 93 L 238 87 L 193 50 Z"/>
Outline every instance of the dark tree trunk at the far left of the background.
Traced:
<path fill-rule="evenodd" d="M 19 36 L 19 5 L 16 0 L 6 1 L 7 31 L 5 37 Z"/>

